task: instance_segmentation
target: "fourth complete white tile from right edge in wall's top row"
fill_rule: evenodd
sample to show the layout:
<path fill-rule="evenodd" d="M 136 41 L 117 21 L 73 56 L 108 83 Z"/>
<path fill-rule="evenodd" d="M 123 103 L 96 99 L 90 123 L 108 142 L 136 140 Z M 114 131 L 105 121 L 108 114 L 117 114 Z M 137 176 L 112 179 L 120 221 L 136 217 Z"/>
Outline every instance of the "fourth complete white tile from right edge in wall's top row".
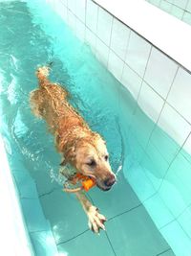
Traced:
<path fill-rule="evenodd" d="M 110 46 L 112 33 L 113 16 L 102 8 L 98 9 L 97 35 L 107 45 Z"/>

